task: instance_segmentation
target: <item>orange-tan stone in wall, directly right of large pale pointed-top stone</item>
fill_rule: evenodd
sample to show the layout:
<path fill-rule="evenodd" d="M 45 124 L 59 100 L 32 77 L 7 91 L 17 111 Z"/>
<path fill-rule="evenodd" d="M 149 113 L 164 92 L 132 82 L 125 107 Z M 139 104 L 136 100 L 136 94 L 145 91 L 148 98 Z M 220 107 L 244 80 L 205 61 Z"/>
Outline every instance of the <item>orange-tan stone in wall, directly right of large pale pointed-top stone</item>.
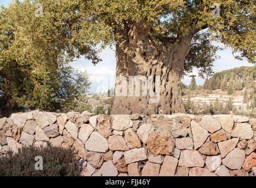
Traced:
<path fill-rule="evenodd" d="M 112 151 L 120 150 L 120 151 L 127 151 L 129 147 L 126 145 L 122 136 L 113 135 L 109 137 L 109 149 Z"/>

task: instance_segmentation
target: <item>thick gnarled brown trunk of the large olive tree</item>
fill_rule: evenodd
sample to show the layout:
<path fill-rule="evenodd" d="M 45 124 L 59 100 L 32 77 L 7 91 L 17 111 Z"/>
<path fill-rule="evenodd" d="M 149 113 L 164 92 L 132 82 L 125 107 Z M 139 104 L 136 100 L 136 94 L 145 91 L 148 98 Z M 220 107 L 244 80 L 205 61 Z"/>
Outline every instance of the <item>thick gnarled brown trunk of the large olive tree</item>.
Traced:
<path fill-rule="evenodd" d="M 111 114 L 152 115 L 185 112 L 180 95 L 180 79 L 183 75 L 185 57 L 190 50 L 192 35 L 173 40 L 163 38 L 160 39 L 162 43 L 156 44 L 148 34 L 147 28 L 142 25 L 117 29 L 116 33 L 122 34 L 116 45 L 116 76 L 127 78 L 127 95 L 115 95 Z M 123 49 L 128 49 L 128 53 Z M 145 93 L 143 95 L 142 85 L 139 96 L 129 96 L 129 76 L 146 76 L 147 80 L 153 76 L 152 88 L 156 94 L 159 92 L 159 98 L 156 97 L 159 100 L 150 102 L 153 96 L 149 90 L 146 96 Z M 160 85 L 157 76 L 160 78 Z M 120 92 L 117 90 L 120 84 L 116 82 L 116 93 Z"/>

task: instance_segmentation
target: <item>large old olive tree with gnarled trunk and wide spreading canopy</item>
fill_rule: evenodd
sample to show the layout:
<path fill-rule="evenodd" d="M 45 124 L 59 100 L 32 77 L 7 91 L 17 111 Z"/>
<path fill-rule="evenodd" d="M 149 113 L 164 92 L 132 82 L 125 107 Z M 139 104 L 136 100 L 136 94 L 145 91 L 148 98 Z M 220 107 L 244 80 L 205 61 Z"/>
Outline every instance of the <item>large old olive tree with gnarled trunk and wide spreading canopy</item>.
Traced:
<path fill-rule="evenodd" d="M 96 47 L 100 51 L 106 45 L 115 45 L 116 76 L 160 76 L 159 102 L 149 103 L 149 95 L 116 96 L 112 114 L 184 112 L 180 79 L 193 68 L 198 68 L 201 76 L 211 75 L 219 49 L 212 45 L 213 40 L 241 52 L 236 58 L 255 63 L 255 5 L 250 0 L 218 1 L 220 16 L 212 15 L 216 7 L 212 8 L 215 2 L 210 0 L 41 0 L 40 3 L 44 16 L 32 18 L 35 1 L 14 2 L 19 16 L 29 18 L 22 23 L 25 28 L 17 32 L 20 38 L 30 34 L 29 41 L 34 39 L 38 45 L 51 37 L 58 38 L 60 43 L 53 45 L 52 50 L 58 49 L 63 55 L 87 55 L 90 59 L 97 58 L 90 53 Z M 50 30 L 44 30 L 45 27 Z M 58 32 L 51 32 L 55 27 Z M 43 37 L 31 36 L 31 28 Z M 26 39 L 22 45 L 28 45 L 24 49 L 31 51 L 32 45 Z M 120 84 L 116 82 L 116 88 Z M 157 92 L 155 79 L 152 85 Z"/>

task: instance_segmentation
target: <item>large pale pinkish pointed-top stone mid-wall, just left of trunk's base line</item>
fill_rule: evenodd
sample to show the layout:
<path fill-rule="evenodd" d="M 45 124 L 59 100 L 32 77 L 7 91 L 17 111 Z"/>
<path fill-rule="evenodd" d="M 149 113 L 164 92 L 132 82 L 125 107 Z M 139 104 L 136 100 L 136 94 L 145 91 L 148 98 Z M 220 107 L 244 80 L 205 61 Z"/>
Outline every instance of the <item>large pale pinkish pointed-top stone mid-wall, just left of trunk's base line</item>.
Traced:
<path fill-rule="evenodd" d="M 95 144 L 97 143 L 97 145 Z M 86 142 L 86 149 L 93 152 L 107 152 L 109 150 L 109 143 L 104 136 L 97 132 L 91 133 L 91 136 Z"/>

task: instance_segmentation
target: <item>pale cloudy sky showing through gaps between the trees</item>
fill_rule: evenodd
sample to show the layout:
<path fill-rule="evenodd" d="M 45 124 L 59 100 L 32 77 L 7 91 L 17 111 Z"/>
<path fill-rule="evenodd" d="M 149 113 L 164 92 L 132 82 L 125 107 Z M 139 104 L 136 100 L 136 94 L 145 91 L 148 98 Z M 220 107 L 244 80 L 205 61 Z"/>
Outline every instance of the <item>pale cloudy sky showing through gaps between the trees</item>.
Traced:
<path fill-rule="evenodd" d="M 11 2 L 11 0 L 0 0 L 0 5 L 8 7 L 9 2 Z M 222 44 L 219 45 L 221 46 Z M 232 69 L 239 66 L 253 66 L 246 60 L 239 61 L 235 59 L 232 55 L 231 48 L 227 48 L 224 51 L 218 51 L 217 55 L 219 55 L 220 58 L 214 62 L 214 72 L 220 72 L 222 70 Z M 103 61 L 99 62 L 96 66 L 94 66 L 90 61 L 85 58 L 80 58 L 70 63 L 70 65 L 73 66 L 73 68 L 75 69 L 78 69 L 80 71 L 87 71 L 87 73 L 90 75 L 91 81 L 91 88 L 89 91 L 93 93 L 100 92 L 100 89 L 103 89 L 104 87 L 108 89 L 114 88 L 115 83 L 115 52 L 110 48 L 106 48 L 103 52 L 99 54 L 99 56 Z M 198 75 L 198 71 L 194 69 L 191 75 Z M 191 77 L 185 76 L 182 82 L 186 85 L 189 85 L 189 83 L 191 82 Z M 203 85 L 204 79 L 196 76 L 196 84 Z"/>

